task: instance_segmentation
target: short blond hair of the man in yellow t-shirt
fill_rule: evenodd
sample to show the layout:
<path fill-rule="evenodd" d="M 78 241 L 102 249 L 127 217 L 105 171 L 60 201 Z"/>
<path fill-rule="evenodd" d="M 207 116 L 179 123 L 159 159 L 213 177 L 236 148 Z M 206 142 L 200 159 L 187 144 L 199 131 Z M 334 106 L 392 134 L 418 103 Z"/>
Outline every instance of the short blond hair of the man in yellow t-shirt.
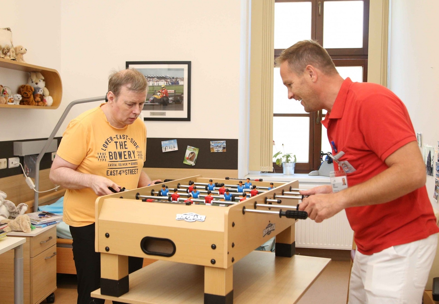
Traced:
<path fill-rule="evenodd" d="M 117 98 L 122 86 L 126 86 L 129 91 L 143 93 L 148 91 L 148 80 L 135 68 L 127 68 L 122 71 L 113 70 L 108 76 L 108 91 L 112 91 Z"/>

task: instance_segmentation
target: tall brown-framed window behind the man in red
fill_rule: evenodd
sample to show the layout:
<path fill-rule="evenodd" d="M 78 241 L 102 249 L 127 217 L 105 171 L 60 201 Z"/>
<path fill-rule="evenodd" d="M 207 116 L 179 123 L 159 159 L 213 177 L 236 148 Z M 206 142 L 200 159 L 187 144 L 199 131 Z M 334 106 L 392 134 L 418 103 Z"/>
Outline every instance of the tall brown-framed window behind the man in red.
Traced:
<path fill-rule="evenodd" d="M 275 0 L 274 58 L 304 39 L 323 45 L 344 79 L 366 82 L 369 0 Z M 326 111 L 306 113 L 298 101 L 288 100 L 276 67 L 273 91 L 273 154 L 295 154 L 297 173 L 317 170 L 320 151 L 331 151 L 320 123 Z M 273 168 L 282 172 L 275 162 Z"/>

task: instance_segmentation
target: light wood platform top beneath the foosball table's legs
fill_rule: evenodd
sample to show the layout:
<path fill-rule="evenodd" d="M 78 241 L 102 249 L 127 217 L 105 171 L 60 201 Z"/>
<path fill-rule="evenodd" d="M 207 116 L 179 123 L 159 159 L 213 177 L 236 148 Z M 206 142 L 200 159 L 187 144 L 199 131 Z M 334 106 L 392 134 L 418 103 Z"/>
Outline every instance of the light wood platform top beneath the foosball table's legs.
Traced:
<path fill-rule="evenodd" d="M 331 259 L 252 251 L 234 265 L 234 304 L 294 304 L 308 290 Z M 204 267 L 156 261 L 130 274 L 130 291 L 121 297 L 92 297 L 130 304 L 203 304 Z"/>

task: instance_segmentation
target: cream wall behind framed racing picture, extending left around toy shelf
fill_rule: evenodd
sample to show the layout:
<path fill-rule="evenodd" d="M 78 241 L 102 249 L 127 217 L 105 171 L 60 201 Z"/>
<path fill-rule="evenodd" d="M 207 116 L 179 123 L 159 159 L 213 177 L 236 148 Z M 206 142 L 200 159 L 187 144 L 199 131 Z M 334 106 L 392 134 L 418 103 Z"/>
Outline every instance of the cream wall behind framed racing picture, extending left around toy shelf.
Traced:
<path fill-rule="evenodd" d="M 241 139 L 239 111 L 244 109 L 245 89 L 240 82 L 246 77 L 241 73 L 247 72 L 241 64 L 247 58 L 241 50 L 241 35 L 247 35 L 242 30 L 247 16 L 241 14 L 241 8 L 247 3 L 5 2 L 2 11 L 9 13 L 2 14 L 0 27 L 11 27 L 14 44 L 27 47 L 28 63 L 60 72 L 63 98 L 57 110 L 2 109 L 0 126 L 14 132 L 1 132 L 0 141 L 49 136 L 68 103 L 104 95 L 108 73 L 125 68 L 125 61 L 192 62 L 191 122 L 145 122 L 148 137 Z M 68 120 L 97 104 L 73 107 L 57 136 L 62 135 Z"/>

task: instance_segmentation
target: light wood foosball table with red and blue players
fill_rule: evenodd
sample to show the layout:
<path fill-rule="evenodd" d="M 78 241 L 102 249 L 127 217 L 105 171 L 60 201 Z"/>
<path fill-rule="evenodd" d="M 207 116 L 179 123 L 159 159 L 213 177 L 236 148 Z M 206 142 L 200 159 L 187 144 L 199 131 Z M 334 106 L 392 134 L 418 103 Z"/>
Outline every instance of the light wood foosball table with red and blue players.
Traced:
<path fill-rule="evenodd" d="M 133 256 L 203 266 L 204 303 L 232 304 L 238 261 L 273 236 L 276 257 L 295 254 L 295 221 L 307 217 L 298 210 L 302 198 L 298 181 L 273 182 L 271 190 L 270 182 L 252 181 L 259 193 L 239 201 L 250 189 L 240 193 L 237 180 L 214 179 L 212 205 L 204 204 L 206 193 L 200 193 L 194 204 L 184 203 L 191 182 L 207 192 L 203 189 L 209 179 L 197 175 L 139 189 L 122 188 L 97 198 L 95 250 L 101 253 L 101 296 L 129 292 L 128 257 Z M 221 184 L 236 193 L 232 200 L 219 195 Z M 157 195 L 162 185 L 170 190 L 169 196 Z M 174 189 L 181 198 L 173 201 Z"/>

